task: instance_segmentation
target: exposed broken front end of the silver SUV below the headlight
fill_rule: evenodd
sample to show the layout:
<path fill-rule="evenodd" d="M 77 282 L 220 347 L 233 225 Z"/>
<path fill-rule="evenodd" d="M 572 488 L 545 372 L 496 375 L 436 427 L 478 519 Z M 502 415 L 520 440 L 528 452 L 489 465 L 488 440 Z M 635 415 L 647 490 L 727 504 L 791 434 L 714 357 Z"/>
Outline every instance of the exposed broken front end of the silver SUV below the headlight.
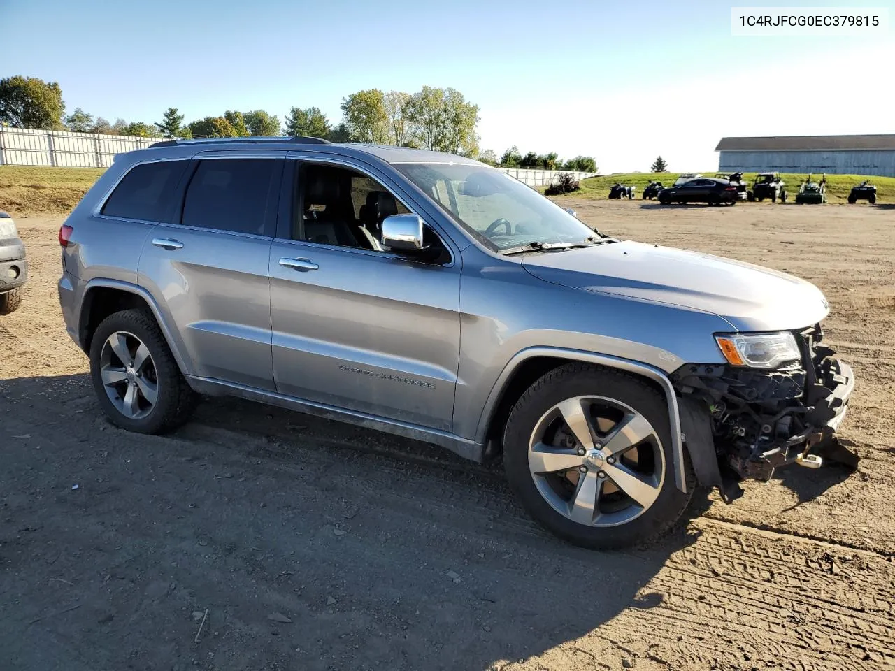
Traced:
<path fill-rule="evenodd" d="M 742 494 L 740 480 L 770 480 L 789 463 L 820 467 L 848 409 L 854 373 L 821 344 L 821 326 L 793 335 L 800 359 L 779 368 L 685 364 L 671 375 L 697 480 L 727 502 Z M 832 454 L 857 465 L 841 446 Z"/>

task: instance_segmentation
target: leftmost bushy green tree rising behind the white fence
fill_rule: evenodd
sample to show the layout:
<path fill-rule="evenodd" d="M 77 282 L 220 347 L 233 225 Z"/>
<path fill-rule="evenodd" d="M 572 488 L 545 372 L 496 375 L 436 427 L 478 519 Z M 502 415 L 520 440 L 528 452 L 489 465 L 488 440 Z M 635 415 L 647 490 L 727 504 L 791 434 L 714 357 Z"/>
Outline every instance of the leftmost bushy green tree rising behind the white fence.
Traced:
<path fill-rule="evenodd" d="M 65 103 L 55 81 L 16 75 L 0 80 L 0 122 L 14 128 L 62 130 Z"/>

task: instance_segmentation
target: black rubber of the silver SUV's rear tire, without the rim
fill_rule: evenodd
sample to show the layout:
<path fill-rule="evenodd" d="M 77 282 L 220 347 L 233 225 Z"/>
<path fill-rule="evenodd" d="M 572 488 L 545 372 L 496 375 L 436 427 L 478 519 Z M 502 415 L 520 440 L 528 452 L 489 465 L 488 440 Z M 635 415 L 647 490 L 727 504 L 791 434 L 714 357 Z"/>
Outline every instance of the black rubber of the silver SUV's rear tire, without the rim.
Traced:
<path fill-rule="evenodd" d="M 158 400 L 149 414 L 139 419 L 126 417 L 115 408 L 100 375 L 99 361 L 103 345 L 116 331 L 125 331 L 139 338 L 149 349 L 155 367 Z M 162 434 L 177 429 L 190 418 L 199 400 L 177 367 L 156 320 L 146 310 L 115 312 L 99 323 L 90 344 L 90 378 L 99 406 L 109 421 L 135 433 Z"/>

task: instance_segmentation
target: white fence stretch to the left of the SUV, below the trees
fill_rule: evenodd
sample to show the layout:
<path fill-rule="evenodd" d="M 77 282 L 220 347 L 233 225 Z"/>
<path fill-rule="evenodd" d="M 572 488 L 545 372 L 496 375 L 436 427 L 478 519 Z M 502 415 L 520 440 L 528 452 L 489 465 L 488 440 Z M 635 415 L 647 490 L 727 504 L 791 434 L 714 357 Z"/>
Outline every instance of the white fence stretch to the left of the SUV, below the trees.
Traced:
<path fill-rule="evenodd" d="M 105 168 L 112 165 L 115 154 L 145 149 L 159 140 L 162 139 L 0 126 L 0 166 Z"/>

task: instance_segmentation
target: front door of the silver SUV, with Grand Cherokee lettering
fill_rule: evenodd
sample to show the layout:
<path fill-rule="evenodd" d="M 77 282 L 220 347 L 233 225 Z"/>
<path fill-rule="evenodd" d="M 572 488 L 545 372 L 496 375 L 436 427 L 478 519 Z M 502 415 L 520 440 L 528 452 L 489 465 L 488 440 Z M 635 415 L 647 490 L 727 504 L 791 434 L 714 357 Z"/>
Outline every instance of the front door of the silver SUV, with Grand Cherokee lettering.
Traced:
<path fill-rule="evenodd" d="M 406 212 L 361 169 L 287 160 L 270 248 L 277 391 L 450 430 L 460 349 L 460 264 L 384 250 L 382 219 Z M 283 225 L 282 219 L 288 219 Z"/>

